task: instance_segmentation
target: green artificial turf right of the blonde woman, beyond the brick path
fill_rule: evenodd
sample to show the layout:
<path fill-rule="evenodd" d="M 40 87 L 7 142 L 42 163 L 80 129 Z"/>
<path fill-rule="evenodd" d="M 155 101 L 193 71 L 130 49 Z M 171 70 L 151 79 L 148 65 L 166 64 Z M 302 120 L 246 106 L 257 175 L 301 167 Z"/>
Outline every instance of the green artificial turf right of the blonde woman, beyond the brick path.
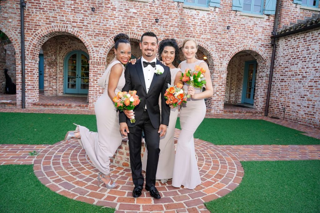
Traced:
<path fill-rule="evenodd" d="M 176 128 L 180 128 L 177 119 Z M 205 118 L 194 137 L 215 145 L 314 145 L 320 140 L 264 120 Z"/>

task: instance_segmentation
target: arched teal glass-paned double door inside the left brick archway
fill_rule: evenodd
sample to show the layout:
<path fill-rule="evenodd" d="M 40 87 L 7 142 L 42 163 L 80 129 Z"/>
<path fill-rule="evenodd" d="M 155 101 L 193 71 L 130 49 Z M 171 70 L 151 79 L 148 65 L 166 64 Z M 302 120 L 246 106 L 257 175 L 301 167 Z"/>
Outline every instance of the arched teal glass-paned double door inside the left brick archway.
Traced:
<path fill-rule="evenodd" d="M 68 53 L 64 63 L 65 93 L 88 94 L 89 56 L 84 51 Z"/>

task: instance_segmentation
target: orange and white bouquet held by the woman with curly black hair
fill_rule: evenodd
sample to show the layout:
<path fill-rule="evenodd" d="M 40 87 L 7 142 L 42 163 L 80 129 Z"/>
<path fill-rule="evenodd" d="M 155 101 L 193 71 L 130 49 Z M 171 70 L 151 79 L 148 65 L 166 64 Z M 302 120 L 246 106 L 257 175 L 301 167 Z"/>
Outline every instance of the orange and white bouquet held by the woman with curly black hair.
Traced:
<path fill-rule="evenodd" d="M 176 86 L 171 86 L 168 83 L 168 89 L 164 93 L 166 104 L 177 107 L 182 103 L 187 103 L 187 93 L 182 89 L 182 86 L 181 83 L 178 83 Z"/>

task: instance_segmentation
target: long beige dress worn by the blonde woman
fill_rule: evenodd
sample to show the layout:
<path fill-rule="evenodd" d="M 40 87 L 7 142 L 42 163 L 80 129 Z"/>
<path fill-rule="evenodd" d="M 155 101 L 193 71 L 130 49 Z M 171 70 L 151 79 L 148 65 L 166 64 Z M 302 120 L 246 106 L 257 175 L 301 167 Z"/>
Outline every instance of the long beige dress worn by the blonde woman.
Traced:
<path fill-rule="evenodd" d="M 181 70 L 190 68 L 195 69 L 202 60 L 188 64 L 187 61 L 181 62 Z M 183 88 L 188 91 L 188 84 Z M 202 88 L 195 88 L 196 93 L 200 93 Z M 193 134 L 203 121 L 206 113 L 204 99 L 188 99 L 186 104 L 180 108 L 181 132 L 178 138 L 176 156 L 173 167 L 172 186 L 187 189 L 194 189 L 201 183 L 198 165 L 196 161 L 195 145 Z"/>

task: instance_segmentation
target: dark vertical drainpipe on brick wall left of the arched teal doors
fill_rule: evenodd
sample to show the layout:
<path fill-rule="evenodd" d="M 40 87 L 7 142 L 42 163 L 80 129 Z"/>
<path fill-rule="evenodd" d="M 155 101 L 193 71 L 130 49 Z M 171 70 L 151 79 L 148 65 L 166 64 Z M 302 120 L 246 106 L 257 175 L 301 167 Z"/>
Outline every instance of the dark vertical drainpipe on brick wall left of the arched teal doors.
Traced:
<path fill-rule="evenodd" d="M 24 8 L 26 3 L 20 0 L 20 34 L 21 34 L 21 108 L 26 107 L 25 49 L 24 49 Z"/>

